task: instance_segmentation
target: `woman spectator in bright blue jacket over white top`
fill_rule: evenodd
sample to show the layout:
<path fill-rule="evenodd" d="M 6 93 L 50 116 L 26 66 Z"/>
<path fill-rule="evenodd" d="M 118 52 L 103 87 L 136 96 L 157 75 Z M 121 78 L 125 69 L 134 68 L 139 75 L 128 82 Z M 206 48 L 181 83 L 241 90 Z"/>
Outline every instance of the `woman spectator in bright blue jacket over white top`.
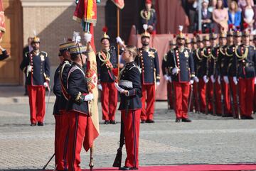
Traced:
<path fill-rule="evenodd" d="M 241 24 L 241 12 L 238 11 L 236 1 L 230 1 L 228 9 L 228 25 L 233 24 L 233 29 Z"/>

